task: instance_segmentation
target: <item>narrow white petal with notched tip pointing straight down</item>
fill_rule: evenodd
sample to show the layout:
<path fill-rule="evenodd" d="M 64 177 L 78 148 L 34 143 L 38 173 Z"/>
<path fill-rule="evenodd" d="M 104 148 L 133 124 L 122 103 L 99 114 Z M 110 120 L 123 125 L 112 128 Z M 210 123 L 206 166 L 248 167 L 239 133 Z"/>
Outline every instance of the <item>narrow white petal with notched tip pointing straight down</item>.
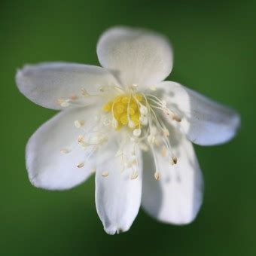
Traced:
<path fill-rule="evenodd" d="M 108 149 L 107 149 L 108 148 Z M 132 145 L 126 145 L 124 156 L 130 158 Z M 137 174 L 129 166 L 123 169 L 122 155 L 116 154 L 117 147 L 107 145 L 105 159 L 96 170 L 96 209 L 108 234 L 125 232 L 130 229 L 142 196 L 142 163 L 136 152 L 139 165 Z M 131 179 L 133 175 L 134 179 Z"/>

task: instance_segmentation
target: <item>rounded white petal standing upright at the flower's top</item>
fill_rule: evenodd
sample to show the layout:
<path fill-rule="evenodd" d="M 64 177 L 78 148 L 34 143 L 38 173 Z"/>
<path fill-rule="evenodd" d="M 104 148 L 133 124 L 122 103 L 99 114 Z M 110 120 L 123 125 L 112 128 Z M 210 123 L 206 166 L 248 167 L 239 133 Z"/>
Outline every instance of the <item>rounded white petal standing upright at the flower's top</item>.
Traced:
<path fill-rule="evenodd" d="M 99 62 L 124 86 L 154 85 L 172 71 L 172 48 L 162 35 L 142 29 L 108 29 L 97 45 Z"/>

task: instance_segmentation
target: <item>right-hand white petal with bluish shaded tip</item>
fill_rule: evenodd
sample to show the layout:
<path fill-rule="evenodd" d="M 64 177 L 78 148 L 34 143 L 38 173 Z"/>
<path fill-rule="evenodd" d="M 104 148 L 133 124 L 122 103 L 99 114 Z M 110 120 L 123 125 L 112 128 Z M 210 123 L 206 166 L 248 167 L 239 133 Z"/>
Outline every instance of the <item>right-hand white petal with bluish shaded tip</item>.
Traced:
<path fill-rule="evenodd" d="M 174 82 L 162 82 L 163 99 L 169 109 L 181 117 L 181 122 L 169 118 L 172 125 L 180 128 L 198 145 L 218 145 L 236 135 L 240 117 L 231 108 L 218 104 L 187 87 Z"/>

